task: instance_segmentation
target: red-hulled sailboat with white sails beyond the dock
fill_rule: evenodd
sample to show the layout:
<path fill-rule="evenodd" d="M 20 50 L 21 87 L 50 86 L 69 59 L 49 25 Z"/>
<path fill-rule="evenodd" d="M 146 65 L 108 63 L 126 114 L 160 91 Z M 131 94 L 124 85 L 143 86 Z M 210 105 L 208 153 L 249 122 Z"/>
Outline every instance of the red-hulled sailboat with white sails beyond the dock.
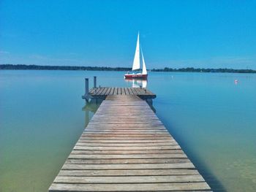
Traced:
<path fill-rule="evenodd" d="M 140 52 L 141 52 L 142 66 L 143 66 L 142 72 L 140 72 Z M 124 78 L 125 79 L 132 79 L 132 78 L 146 79 L 147 77 L 148 77 L 148 72 L 146 69 L 143 52 L 140 47 L 140 34 L 138 34 L 137 45 L 135 50 L 135 58 L 133 60 L 133 65 L 132 65 L 132 72 L 127 72 L 127 74 L 124 74 Z"/>

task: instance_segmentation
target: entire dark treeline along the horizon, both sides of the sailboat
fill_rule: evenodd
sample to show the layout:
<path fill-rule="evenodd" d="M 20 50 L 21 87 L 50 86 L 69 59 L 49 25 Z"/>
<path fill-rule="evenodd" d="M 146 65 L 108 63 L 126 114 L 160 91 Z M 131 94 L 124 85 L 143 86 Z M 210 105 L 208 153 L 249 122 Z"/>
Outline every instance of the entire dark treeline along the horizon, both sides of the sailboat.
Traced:
<path fill-rule="evenodd" d="M 106 66 L 39 66 L 39 65 L 12 65 L 1 64 L 0 69 L 13 70 L 80 70 L 80 71 L 130 71 L 128 67 L 106 67 Z M 152 69 L 151 72 L 223 72 L 223 73 L 256 73 L 252 69 L 196 69 L 193 67 L 173 69 Z"/>

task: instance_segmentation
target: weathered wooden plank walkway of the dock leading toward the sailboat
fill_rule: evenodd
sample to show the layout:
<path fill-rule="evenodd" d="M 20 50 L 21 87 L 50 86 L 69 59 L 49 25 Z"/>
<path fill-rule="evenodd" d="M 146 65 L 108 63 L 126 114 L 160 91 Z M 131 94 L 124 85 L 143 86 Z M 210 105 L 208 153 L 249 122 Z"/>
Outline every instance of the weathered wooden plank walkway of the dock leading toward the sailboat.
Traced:
<path fill-rule="evenodd" d="M 115 90 L 49 191 L 211 191 L 146 101 L 123 94 L 135 90 Z"/>

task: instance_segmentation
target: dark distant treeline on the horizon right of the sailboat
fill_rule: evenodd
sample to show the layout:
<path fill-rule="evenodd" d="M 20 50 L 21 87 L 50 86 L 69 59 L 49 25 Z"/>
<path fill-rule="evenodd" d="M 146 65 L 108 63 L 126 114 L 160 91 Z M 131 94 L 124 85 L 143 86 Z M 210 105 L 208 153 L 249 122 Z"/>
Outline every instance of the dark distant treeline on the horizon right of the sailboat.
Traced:
<path fill-rule="evenodd" d="M 165 67 L 165 69 L 152 69 L 151 72 L 219 72 L 219 73 L 256 73 L 256 70 L 252 69 L 200 69 L 200 68 L 181 68 L 172 69 Z"/>

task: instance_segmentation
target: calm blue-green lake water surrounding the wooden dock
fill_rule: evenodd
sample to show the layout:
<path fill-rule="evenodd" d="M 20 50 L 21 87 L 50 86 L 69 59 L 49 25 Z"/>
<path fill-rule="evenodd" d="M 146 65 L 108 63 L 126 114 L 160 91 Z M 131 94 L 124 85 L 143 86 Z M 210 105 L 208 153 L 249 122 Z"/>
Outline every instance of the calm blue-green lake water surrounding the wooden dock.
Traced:
<path fill-rule="evenodd" d="M 81 96 L 94 75 L 101 86 L 147 83 L 158 117 L 214 191 L 256 191 L 256 74 L 123 74 L 0 71 L 0 191 L 48 191 L 93 115 Z"/>

